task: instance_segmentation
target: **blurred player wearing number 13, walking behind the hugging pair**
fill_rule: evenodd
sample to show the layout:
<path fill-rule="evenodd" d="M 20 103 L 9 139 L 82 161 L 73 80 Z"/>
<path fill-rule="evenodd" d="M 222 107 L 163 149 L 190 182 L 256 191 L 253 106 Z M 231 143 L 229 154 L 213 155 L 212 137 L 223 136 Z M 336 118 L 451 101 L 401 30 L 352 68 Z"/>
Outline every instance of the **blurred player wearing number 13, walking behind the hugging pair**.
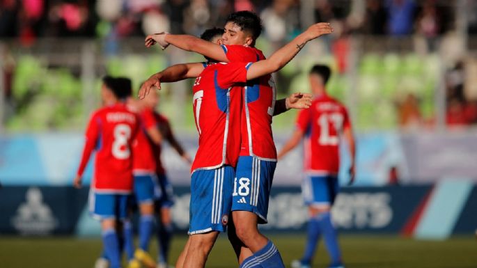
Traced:
<path fill-rule="evenodd" d="M 331 74 L 325 65 L 315 65 L 309 73 L 314 100 L 311 108 L 299 112 L 297 128 L 279 152 L 279 159 L 295 148 L 304 138 L 305 179 L 302 192 L 308 206 L 308 236 L 302 260 L 292 262 L 293 268 L 311 267 L 320 235 L 324 237 L 331 264 L 343 267 L 336 230 L 331 223 L 331 206 L 338 194 L 339 144 L 341 135 L 347 141 L 351 155 L 350 184 L 354 181 L 355 145 L 346 108 L 327 95 L 325 85 Z"/>

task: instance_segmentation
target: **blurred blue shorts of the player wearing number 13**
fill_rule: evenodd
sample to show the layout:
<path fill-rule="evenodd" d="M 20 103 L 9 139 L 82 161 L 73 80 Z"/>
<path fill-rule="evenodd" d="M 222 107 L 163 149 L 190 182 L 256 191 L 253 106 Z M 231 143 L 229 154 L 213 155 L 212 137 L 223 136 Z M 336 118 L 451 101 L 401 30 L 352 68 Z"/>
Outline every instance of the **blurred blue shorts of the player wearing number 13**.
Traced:
<path fill-rule="evenodd" d="M 306 175 L 302 184 L 303 198 L 308 206 L 329 207 L 333 205 L 338 191 L 336 175 Z"/>

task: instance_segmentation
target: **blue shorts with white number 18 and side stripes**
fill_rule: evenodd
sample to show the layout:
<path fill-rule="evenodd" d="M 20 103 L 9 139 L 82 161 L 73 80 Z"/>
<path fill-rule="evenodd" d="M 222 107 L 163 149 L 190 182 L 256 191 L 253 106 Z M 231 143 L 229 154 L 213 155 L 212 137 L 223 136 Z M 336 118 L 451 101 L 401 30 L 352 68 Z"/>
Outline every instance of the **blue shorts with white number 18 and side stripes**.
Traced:
<path fill-rule="evenodd" d="M 267 223 L 275 167 L 275 161 L 239 157 L 233 184 L 232 211 L 253 212 L 258 215 L 258 223 Z"/>

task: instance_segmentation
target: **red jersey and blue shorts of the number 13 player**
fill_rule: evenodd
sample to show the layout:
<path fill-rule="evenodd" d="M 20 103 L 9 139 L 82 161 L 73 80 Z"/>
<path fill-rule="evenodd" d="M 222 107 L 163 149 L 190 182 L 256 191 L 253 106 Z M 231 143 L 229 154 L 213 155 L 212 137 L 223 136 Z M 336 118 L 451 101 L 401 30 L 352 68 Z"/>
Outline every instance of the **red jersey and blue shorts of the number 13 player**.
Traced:
<path fill-rule="evenodd" d="M 307 205 L 330 205 L 338 193 L 339 143 L 343 129 L 351 127 L 347 109 L 328 95 L 316 97 L 309 109 L 298 113 L 297 128 L 304 133 L 302 187 Z"/>

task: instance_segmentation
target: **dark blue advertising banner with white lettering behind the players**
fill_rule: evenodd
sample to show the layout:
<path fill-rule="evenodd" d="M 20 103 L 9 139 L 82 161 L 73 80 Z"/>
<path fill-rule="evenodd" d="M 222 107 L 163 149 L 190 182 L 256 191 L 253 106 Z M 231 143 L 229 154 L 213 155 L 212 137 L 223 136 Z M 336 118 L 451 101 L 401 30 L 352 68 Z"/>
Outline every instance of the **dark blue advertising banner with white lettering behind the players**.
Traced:
<path fill-rule="evenodd" d="M 474 232 L 477 226 L 477 187 L 469 185 L 469 194 L 460 202 L 462 205 L 450 213 L 455 219 L 447 219 L 449 234 Z M 430 184 L 343 187 L 332 210 L 333 220 L 343 232 L 414 235 L 433 220 L 432 207 L 448 198 L 436 189 L 439 187 Z M 87 188 L 3 187 L 0 189 L 0 233 L 99 235 L 100 225 L 88 215 L 87 199 Z M 178 232 L 188 228 L 189 200 L 189 187 L 175 187 L 172 212 Z M 269 202 L 269 223 L 260 228 L 300 231 L 306 228 L 307 219 L 299 187 L 274 187 Z"/>

